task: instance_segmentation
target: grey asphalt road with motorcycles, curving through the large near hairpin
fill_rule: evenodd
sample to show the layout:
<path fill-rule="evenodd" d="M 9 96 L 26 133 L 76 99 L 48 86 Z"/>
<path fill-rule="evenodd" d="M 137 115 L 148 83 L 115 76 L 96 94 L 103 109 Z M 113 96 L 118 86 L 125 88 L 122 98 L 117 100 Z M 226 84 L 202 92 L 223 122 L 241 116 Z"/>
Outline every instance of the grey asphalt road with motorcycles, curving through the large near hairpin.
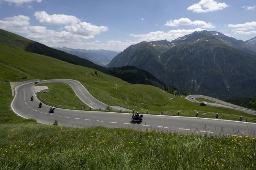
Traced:
<path fill-rule="evenodd" d="M 60 79 L 40 81 L 46 82 L 64 82 L 73 88 L 76 94 L 84 103 L 89 103 L 90 107 L 106 106 L 104 103 L 92 97 L 88 91 L 75 80 Z M 19 85 L 15 88 L 15 97 L 12 101 L 12 110 L 24 118 L 33 118 L 39 123 L 50 124 L 54 120 L 58 121 L 60 126 L 91 127 L 105 126 L 130 128 L 139 130 L 158 130 L 180 133 L 198 133 L 199 135 L 221 136 L 242 136 L 242 132 L 250 137 L 256 137 L 256 123 L 239 122 L 232 120 L 209 119 L 199 117 L 178 117 L 165 115 L 144 114 L 142 123 L 131 122 L 131 114 L 113 113 L 101 111 L 78 111 L 56 108 L 54 113 L 49 113 L 50 106 L 45 104 L 38 108 L 39 100 L 34 93 L 34 82 Z M 30 101 L 30 97 L 34 100 Z M 95 100 L 94 100 L 95 99 Z"/>

